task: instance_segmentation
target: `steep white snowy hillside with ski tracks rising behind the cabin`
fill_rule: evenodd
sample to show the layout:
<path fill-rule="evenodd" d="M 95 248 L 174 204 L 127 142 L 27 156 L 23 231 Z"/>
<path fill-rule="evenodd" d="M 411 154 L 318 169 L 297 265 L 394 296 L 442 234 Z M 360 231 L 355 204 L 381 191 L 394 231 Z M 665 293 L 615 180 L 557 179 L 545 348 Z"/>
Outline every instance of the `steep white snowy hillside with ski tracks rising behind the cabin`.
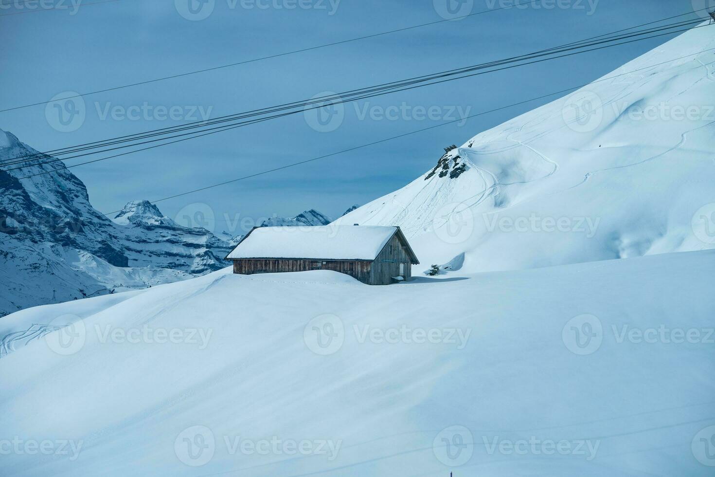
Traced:
<path fill-rule="evenodd" d="M 694 53 L 714 32 L 476 135 L 337 222 L 400 225 L 423 263 L 464 253 L 471 272 L 713 247 L 715 54 Z"/>

